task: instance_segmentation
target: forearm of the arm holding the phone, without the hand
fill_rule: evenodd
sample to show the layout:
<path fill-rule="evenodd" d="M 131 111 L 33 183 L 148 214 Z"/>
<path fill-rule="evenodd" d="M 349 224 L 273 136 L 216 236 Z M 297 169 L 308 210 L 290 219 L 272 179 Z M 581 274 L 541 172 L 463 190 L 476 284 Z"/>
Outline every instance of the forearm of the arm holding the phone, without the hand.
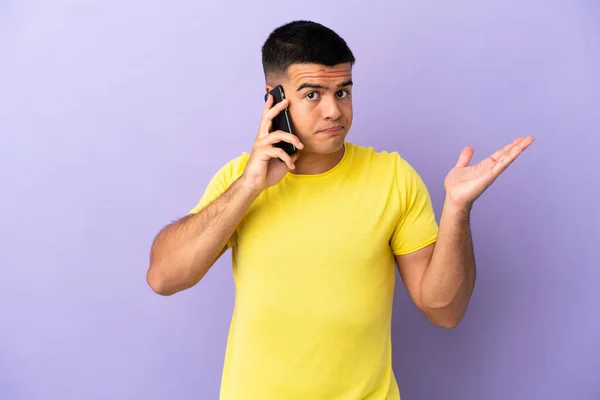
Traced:
<path fill-rule="evenodd" d="M 197 214 L 164 228 L 150 252 L 147 281 L 152 289 L 171 295 L 198 283 L 257 196 L 238 179 Z"/>

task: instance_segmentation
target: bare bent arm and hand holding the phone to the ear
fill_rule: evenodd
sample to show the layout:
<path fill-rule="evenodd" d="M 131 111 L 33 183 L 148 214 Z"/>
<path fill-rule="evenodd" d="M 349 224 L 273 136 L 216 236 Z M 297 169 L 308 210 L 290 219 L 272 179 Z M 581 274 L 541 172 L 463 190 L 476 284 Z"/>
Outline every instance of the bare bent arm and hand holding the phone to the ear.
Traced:
<path fill-rule="evenodd" d="M 295 168 L 298 154 L 290 157 L 273 145 L 286 141 L 302 149 L 300 140 L 287 132 L 270 132 L 273 117 L 287 106 L 288 100 L 273 106 L 269 96 L 242 176 L 197 214 L 172 223 L 156 236 L 146 273 L 156 293 L 168 296 L 196 285 L 225 252 L 227 241 L 259 194 Z"/>

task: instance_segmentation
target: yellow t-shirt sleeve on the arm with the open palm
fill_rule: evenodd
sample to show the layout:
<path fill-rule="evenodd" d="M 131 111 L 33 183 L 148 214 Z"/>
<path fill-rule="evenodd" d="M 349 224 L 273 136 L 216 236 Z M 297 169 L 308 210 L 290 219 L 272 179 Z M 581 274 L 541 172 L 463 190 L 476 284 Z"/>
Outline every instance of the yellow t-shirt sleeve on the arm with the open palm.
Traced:
<path fill-rule="evenodd" d="M 390 244 L 394 255 L 403 255 L 434 243 L 437 240 L 438 223 L 423 179 L 398 153 L 395 156 L 395 184 L 400 215 Z"/>

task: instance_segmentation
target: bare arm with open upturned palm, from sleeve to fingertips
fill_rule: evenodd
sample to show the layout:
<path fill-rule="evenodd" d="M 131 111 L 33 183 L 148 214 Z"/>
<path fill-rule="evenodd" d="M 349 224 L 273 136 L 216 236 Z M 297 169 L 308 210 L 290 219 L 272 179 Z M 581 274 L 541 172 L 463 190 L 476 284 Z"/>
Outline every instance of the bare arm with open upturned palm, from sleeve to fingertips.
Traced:
<path fill-rule="evenodd" d="M 396 256 L 411 298 L 435 325 L 458 325 L 473 293 L 476 273 L 469 225 L 473 203 L 533 140 L 518 138 L 474 166 L 469 166 L 473 149 L 465 148 L 445 180 L 446 199 L 437 242 Z"/>

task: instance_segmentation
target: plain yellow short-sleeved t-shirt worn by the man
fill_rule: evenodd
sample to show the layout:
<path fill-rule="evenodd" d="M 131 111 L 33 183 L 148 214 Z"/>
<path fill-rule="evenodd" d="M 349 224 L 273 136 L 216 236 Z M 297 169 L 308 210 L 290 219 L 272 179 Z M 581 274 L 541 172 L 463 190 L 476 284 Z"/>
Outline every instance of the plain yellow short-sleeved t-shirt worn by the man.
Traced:
<path fill-rule="evenodd" d="M 228 243 L 235 307 L 222 400 L 400 398 L 392 371 L 395 254 L 436 240 L 427 188 L 397 152 L 346 142 L 319 175 L 288 173 Z M 211 180 L 198 212 L 242 172 Z"/>

